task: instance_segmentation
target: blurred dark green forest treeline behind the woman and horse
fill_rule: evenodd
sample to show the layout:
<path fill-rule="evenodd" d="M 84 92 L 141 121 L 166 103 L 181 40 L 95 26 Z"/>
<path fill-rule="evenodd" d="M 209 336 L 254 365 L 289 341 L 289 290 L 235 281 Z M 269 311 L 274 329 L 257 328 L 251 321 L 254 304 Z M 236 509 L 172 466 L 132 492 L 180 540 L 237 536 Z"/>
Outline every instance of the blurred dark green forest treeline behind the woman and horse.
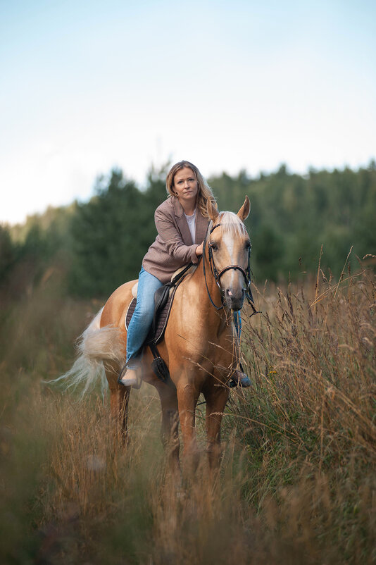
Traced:
<path fill-rule="evenodd" d="M 0 225 L 0 284 L 6 297 L 46 276 L 61 273 L 63 292 L 105 297 L 137 277 L 156 236 L 153 212 L 166 197 L 165 174 L 151 168 L 144 190 L 121 170 L 96 181 L 88 202 L 47 209 L 24 225 Z M 307 175 L 276 173 L 251 178 L 223 173 L 208 179 L 220 210 L 237 211 L 251 199 L 246 221 L 251 263 L 258 283 L 295 279 L 321 264 L 341 273 L 351 246 L 351 266 L 376 253 L 376 163 L 359 170 L 310 170 Z M 3 296 L 4 297 L 4 296 Z"/>

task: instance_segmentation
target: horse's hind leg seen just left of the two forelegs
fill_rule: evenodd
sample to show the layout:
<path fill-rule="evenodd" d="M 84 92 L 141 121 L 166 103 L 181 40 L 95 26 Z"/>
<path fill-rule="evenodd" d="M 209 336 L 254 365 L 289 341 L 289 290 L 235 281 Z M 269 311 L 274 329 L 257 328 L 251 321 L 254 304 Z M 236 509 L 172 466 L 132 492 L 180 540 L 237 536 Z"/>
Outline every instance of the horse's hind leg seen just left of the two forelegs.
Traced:
<path fill-rule="evenodd" d="M 161 438 L 168 457 L 168 463 L 173 472 L 180 470 L 179 464 L 179 411 L 175 388 L 160 382 L 155 385 L 161 399 L 162 430 Z"/>

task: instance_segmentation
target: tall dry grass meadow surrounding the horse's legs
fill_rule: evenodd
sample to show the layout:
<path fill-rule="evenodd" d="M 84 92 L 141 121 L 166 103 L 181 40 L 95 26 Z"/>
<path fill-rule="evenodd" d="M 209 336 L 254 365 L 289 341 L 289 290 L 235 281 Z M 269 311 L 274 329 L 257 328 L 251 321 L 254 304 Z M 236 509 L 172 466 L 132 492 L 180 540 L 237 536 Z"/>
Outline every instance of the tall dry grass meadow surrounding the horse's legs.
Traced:
<path fill-rule="evenodd" d="M 8 300 L 0 562 L 375 563 L 375 277 L 306 276 L 253 287 L 262 313 L 242 316 L 253 387 L 232 390 L 218 476 L 203 453 L 181 485 L 165 466 L 152 387 L 132 392 L 123 447 L 107 395 L 80 402 L 79 391 L 43 382 L 71 366 L 101 302 L 62 298 L 54 269 Z"/>

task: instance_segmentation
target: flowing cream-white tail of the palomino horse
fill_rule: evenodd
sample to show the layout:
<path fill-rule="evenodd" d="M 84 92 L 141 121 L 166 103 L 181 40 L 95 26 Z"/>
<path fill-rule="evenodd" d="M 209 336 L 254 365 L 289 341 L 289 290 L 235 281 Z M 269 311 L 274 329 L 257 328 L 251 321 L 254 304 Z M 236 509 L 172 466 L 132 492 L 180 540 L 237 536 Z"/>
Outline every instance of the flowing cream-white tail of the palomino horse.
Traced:
<path fill-rule="evenodd" d="M 106 364 L 111 361 L 119 365 L 125 363 L 125 344 L 121 339 L 120 330 L 113 325 L 100 327 L 102 311 L 103 308 L 78 338 L 78 356 L 73 366 L 64 375 L 52 381 L 57 383 L 63 380 L 67 388 L 83 385 L 82 396 L 98 381 L 104 392 Z"/>

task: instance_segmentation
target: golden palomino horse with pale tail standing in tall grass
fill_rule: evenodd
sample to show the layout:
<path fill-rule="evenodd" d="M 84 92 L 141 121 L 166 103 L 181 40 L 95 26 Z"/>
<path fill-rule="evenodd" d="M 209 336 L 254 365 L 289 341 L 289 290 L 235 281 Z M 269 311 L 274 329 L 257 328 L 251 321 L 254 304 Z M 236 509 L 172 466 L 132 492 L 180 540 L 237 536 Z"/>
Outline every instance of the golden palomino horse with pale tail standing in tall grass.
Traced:
<path fill-rule="evenodd" d="M 246 197 L 237 214 L 221 212 L 208 201 L 209 224 L 199 266 L 177 287 L 165 335 L 158 349 L 168 366 L 172 383 L 151 370 L 153 357 L 144 349 L 142 378 L 156 387 L 162 406 L 162 437 L 170 462 L 179 466 L 178 423 L 182 428 L 184 456 L 197 452 L 195 409 L 202 392 L 206 400 L 207 452 L 211 466 L 220 455 L 220 423 L 229 396 L 228 381 L 239 363 L 239 343 L 233 312 L 242 309 L 249 286 L 249 235 L 244 220 L 249 215 Z M 82 335 L 81 355 L 65 376 L 86 388 L 103 372 L 111 392 L 111 414 L 126 433 L 131 387 L 118 384 L 125 361 L 125 315 L 135 281 L 120 286 Z"/>

